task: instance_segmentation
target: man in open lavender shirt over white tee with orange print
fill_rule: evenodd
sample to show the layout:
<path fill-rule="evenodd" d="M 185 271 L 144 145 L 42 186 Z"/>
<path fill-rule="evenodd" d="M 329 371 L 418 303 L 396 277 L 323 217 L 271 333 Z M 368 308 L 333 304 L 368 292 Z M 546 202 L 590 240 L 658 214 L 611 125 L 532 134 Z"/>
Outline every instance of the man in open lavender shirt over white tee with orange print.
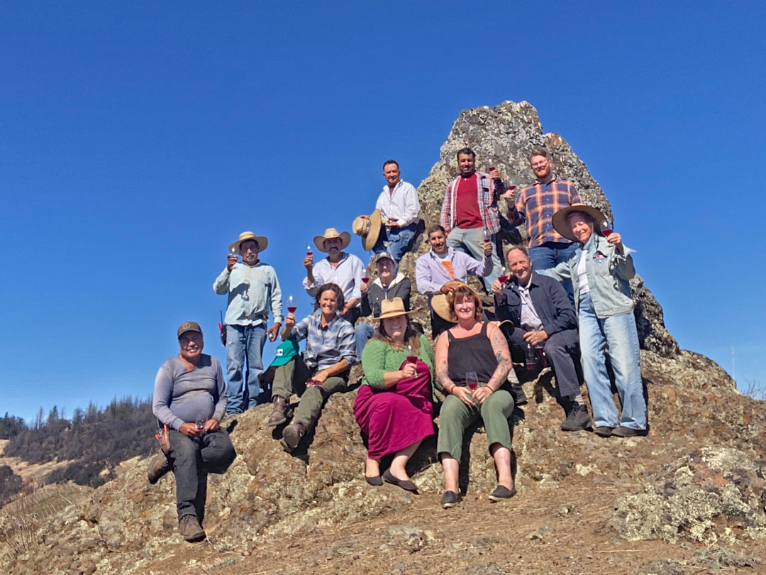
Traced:
<path fill-rule="evenodd" d="M 485 278 L 492 272 L 492 245 L 485 242 L 484 259 L 473 259 L 463 251 L 447 248 L 447 234 L 438 224 L 427 230 L 430 251 L 421 255 L 415 262 L 415 282 L 417 291 L 428 296 L 428 308 L 431 317 L 431 335 L 436 339 L 442 331 L 453 324 L 441 319 L 430 305 L 435 294 L 448 294 L 457 287 L 454 281 L 466 283 L 468 275 Z"/>

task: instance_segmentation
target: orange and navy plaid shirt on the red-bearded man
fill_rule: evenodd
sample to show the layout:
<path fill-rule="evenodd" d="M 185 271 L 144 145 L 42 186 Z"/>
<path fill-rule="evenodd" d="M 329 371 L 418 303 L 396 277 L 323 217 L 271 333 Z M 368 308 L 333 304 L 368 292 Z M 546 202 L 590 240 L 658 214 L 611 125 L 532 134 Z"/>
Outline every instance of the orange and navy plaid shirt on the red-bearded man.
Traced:
<path fill-rule="evenodd" d="M 552 179 L 544 184 L 535 182 L 516 195 L 514 207 L 508 210 L 511 225 L 527 223 L 529 247 L 545 244 L 546 241 L 569 240 L 553 228 L 553 215 L 568 205 L 581 203 L 575 184 L 566 179 Z"/>

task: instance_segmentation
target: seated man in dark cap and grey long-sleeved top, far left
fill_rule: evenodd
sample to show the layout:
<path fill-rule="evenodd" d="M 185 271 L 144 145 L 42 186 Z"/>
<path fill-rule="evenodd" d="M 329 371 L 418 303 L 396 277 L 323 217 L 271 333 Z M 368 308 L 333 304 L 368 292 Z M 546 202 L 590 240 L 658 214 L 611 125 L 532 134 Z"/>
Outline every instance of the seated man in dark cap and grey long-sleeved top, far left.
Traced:
<path fill-rule="evenodd" d="M 197 322 L 178 327 L 178 344 L 181 353 L 162 364 L 154 382 L 152 412 L 163 428 L 163 452 L 152 460 L 147 475 L 153 484 L 173 471 L 178 530 L 193 542 L 205 539 L 201 523 L 208 472 L 223 473 L 237 454 L 221 429 L 227 403 L 221 363 L 202 353 L 205 342 Z"/>

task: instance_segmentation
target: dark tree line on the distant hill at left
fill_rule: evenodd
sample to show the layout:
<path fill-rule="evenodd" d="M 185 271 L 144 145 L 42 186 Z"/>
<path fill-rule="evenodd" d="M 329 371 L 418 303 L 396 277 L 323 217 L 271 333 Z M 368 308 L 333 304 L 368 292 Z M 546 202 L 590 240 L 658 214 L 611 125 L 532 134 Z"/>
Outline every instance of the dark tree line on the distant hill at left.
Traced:
<path fill-rule="evenodd" d="M 0 439 L 8 439 L 2 455 L 32 464 L 70 461 L 45 478 L 45 483 L 74 481 L 98 487 L 114 478 L 114 468 L 136 455 L 149 455 L 156 447 L 157 419 L 150 399 L 113 399 L 103 409 L 91 402 L 67 419 L 56 406 L 47 417 L 42 408 L 34 421 L 9 416 L 0 419 Z M 0 468 L 0 505 L 21 489 L 18 475 Z M 11 493 L 12 492 L 12 493 Z"/>

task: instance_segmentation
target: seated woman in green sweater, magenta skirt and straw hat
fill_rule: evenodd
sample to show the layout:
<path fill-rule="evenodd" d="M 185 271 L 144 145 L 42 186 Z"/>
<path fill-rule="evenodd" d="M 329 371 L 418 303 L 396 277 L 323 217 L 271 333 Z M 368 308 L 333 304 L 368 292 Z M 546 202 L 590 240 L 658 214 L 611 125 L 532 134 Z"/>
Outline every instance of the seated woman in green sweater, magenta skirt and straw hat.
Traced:
<path fill-rule="evenodd" d="M 383 479 L 407 491 L 417 487 L 405 466 L 417 447 L 434 435 L 434 352 L 410 322 L 401 297 L 381 302 L 378 332 L 362 352 L 362 386 L 354 416 L 368 437 L 365 480 Z M 380 461 L 394 454 L 391 467 L 380 475 Z"/>

